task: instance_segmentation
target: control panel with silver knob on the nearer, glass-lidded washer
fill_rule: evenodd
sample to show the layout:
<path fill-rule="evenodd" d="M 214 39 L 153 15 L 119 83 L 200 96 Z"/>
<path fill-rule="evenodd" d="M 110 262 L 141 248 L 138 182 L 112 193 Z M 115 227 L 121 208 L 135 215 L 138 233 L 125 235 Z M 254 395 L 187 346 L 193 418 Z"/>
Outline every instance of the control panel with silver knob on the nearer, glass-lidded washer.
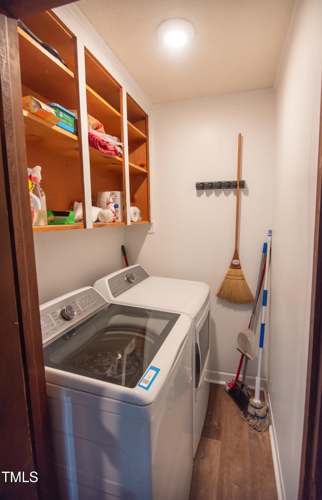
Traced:
<path fill-rule="evenodd" d="M 92 287 L 80 288 L 40 305 L 43 345 L 80 323 L 108 302 Z"/>

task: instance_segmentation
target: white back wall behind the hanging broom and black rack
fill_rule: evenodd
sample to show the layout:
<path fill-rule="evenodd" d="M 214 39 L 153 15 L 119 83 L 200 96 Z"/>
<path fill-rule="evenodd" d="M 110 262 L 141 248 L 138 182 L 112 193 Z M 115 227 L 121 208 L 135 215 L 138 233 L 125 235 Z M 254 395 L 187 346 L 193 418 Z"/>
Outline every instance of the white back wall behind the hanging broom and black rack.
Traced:
<path fill-rule="evenodd" d="M 142 231 L 141 238 L 134 236 L 136 228 L 130 236 L 126 233 L 128 252 L 150 274 L 209 284 L 214 381 L 227 380 L 227 373 L 218 372 L 236 372 L 237 334 L 248 328 L 253 304 L 235 305 L 216 297 L 233 256 L 236 190 L 196 191 L 195 185 L 236 180 L 241 133 L 241 178 L 247 188 L 240 190 L 239 257 L 255 293 L 272 221 L 274 103 L 268 90 L 155 106 L 155 233 Z M 248 373 L 256 371 L 257 359 L 249 363 Z"/>

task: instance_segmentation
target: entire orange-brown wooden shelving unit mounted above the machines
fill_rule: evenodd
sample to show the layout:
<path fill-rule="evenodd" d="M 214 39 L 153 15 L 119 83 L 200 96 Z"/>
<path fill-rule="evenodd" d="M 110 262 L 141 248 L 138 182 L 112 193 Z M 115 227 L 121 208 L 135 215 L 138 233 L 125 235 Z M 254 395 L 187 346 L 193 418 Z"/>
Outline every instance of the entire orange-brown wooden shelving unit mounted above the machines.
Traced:
<path fill-rule="evenodd" d="M 117 137 L 124 144 L 124 127 L 127 127 L 128 144 L 122 147 L 122 156 L 116 156 L 101 152 L 88 143 L 81 144 L 76 128 L 74 134 L 66 132 L 23 110 L 28 167 L 42 167 L 41 185 L 46 193 L 47 210 L 71 210 L 74 201 L 85 205 L 88 186 L 84 184 L 84 168 L 89 168 L 93 205 L 96 205 L 99 192 L 121 191 L 124 193 L 125 215 L 127 205 L 137 206 L 141 211 L 140 223 L 150 222 L 147 114 L 128 93 L 125 113 L 123 88 L 86 47 L 85 81 L 77 81 L 75 36 L 52 12 L 43 12 L 22 21 L 40 40 L 54 47 L 66 63 L 62 64 L 19 27 L 22 96 L 32 95 L 44 103 L 57 103 L 73 111 L 78 120 L 78 85 L 79 88 L 83 86 L 88 115 L 102 123 L 106 134 Z M 87 126 L 87 123 L 82 123 L 82 130 Z M 87 163 L 84 160 L 87 148 L 89 165 L 88 160 Z M 125 167 L 125 155 L 128 155 L 128 169 Z M 126 185 L 130 186 L 128 193 Z M 87 211 L 90 209 L 86 206 Z M 93 226 L 113 227 L 130 223 L 125 218 L 125 222 L 94 223 Z M 33 230 L 46 232 L 83 228 L 86 228 L 86 223 L 48 225 L 34 227 Z"/>

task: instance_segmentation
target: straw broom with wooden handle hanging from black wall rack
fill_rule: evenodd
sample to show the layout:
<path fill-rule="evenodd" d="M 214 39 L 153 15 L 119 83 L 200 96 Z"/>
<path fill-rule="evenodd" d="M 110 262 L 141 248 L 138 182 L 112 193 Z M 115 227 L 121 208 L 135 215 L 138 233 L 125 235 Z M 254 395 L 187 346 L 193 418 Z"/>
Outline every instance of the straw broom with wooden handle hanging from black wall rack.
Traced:
<path fill-rule="evenodd" d="M 240 266 L 238 256 L 240 146 L 241 134 L 238 134 L 235 249 L 229 269 L 219 287 L 216 296 L 234 304 L 249 304 L 250 302 L 254 302 L 254 296 L 247 284 L 243 270 Z"/>

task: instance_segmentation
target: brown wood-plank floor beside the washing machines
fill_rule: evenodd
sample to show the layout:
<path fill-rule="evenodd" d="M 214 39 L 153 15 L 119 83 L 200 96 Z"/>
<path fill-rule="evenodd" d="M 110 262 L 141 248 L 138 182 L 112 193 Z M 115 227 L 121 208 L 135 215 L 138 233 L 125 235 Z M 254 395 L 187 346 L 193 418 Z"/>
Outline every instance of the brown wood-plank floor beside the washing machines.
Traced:
<path fill-rule="evenodd" d="M 277 500 L 269 431 L 252 429 L 223 385 L 210 385 L 190 500 Z"/>

